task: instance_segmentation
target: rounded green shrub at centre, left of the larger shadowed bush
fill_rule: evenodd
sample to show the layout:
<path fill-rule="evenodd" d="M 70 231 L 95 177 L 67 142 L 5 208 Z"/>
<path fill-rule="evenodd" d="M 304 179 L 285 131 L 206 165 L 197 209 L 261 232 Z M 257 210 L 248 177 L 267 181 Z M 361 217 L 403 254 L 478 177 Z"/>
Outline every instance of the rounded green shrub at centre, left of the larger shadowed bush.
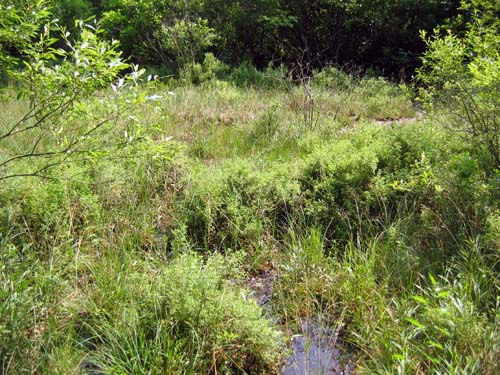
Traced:
<path fill-rule="evenodd" d="M 266 171 L 235 160 L 208 169 L 177 207 L 187 237 L 202 250 L 253 248 L 265 233 L 281 231 L 296 204 L 298 183 L 290 179 L 293 165 L 272 165 Z"/>

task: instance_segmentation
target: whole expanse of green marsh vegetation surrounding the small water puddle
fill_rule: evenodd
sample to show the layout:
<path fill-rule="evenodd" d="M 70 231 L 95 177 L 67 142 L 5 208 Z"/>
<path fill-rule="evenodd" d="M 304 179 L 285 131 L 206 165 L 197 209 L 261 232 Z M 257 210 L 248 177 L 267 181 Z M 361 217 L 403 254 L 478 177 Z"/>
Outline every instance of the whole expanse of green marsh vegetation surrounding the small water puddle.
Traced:
<path fill-rule="evenodd" d="M 150 87 L 116 153 L 2 184 L 0 372 L 279 373 L 314 321 L 357 372 L 497 373 L 498 178 L 432 120 L 375 123 L 414 115 L 397 86 L 330 74 L 314 126 L 293 85 Z"/>

